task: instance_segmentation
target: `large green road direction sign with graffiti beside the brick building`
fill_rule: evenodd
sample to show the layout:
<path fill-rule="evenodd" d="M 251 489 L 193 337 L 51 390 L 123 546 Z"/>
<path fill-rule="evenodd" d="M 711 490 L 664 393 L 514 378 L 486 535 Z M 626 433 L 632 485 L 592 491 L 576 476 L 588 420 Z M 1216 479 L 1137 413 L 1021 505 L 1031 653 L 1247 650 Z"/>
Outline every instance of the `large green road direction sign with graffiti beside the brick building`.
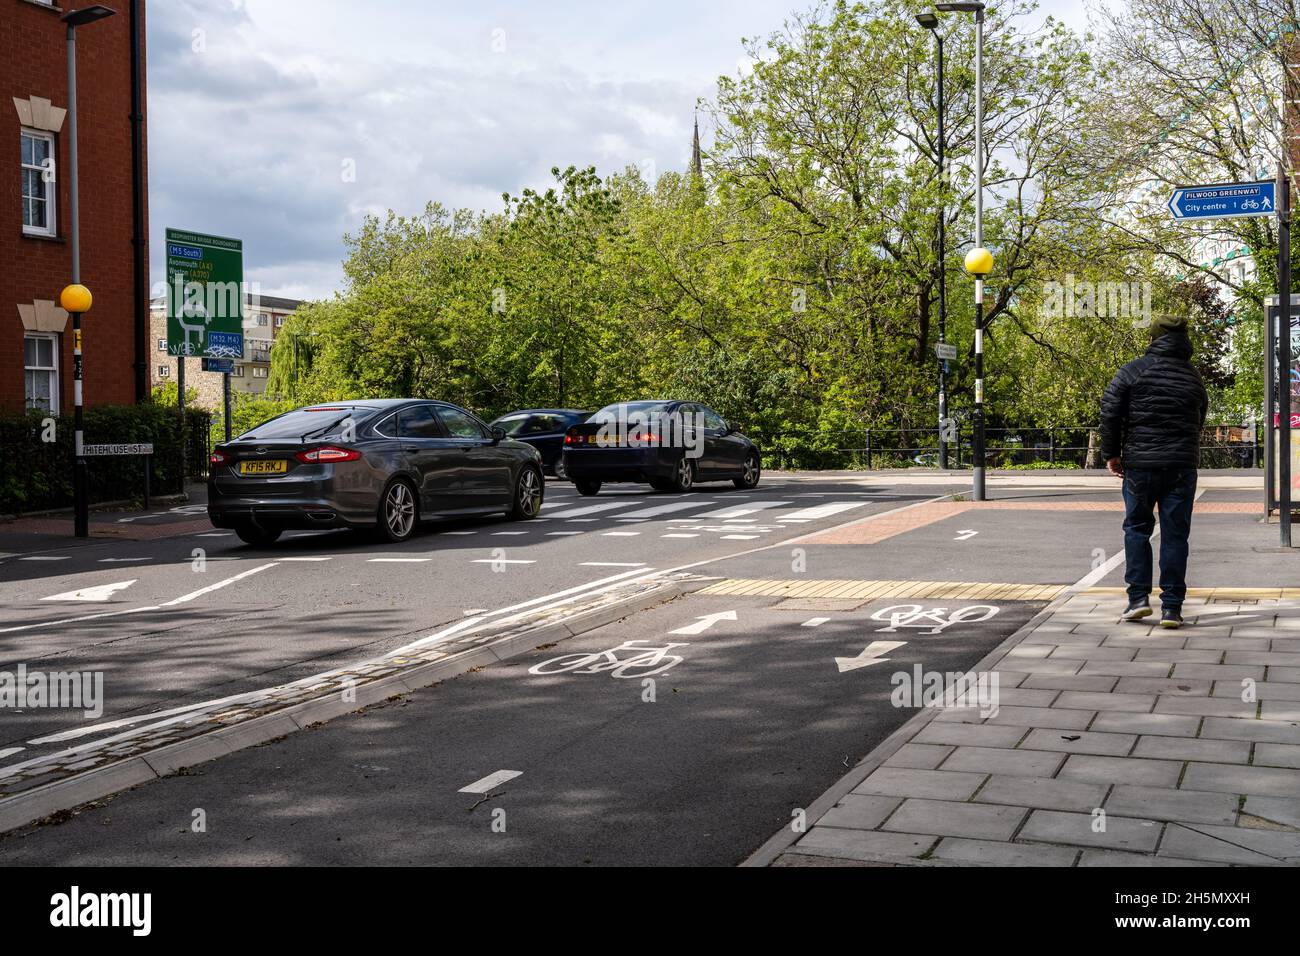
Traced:
<path fill-rule="evenodd" d="M 243 242 L 166 230 L 170 355 L 243 358 Z"/>

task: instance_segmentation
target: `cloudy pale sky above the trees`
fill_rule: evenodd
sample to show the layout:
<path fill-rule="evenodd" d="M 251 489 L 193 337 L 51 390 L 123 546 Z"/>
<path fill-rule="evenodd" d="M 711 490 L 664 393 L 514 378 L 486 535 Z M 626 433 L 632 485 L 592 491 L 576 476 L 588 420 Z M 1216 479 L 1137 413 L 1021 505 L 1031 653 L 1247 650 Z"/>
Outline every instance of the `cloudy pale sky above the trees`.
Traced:
<path fill-rule="evenodd" d="M 555 165 L 681 169 L 741 38 L 810 4 L 155 0 L 153 276 L 176 226 L 242 238 L 264 294 L 328 297 L 367 212 L 495 211 Z M 1040 13 L 1087 25 L 1080 0 Z"/>

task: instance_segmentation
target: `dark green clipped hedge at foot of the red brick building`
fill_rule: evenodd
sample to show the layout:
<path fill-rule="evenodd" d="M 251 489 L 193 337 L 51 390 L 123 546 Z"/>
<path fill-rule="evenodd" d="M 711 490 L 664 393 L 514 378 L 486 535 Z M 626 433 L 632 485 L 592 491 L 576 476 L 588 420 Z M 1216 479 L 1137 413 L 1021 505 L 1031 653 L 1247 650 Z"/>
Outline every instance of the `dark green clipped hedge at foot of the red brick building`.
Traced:
<path fill-rule="evenodd" d="M 52 421 L 52 428 L 51 423 Z M 209 414 L 186 408 L 191 477 L 208 466 Z M 176 406 L 100 405 L 86 410 L 86 442 L 152 442 L 151 492 L 182 490 L 182 445 Z M 0 415 L 0 514 L 70 507 L 73 503 L 73 416 L 27 412 Z M 138 499 L 144 494 L 139 455 L 87 459 L 91 503 Z"/>

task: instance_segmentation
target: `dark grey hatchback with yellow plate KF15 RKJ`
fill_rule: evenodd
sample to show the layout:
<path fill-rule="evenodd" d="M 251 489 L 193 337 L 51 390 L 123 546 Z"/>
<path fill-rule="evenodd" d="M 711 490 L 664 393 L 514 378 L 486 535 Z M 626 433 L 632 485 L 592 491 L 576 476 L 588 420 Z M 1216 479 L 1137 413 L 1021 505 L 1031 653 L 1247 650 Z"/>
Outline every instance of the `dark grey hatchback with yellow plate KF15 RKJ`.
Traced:
<path fill-rule="evenodd" d="M 208 468 L 208 518 L 255 545 L 290 528 L 404 541 L 429 518 L 537 518 L 543 493 L 537 449 L 417 398 L 295 408 L 217 445 Z"/>

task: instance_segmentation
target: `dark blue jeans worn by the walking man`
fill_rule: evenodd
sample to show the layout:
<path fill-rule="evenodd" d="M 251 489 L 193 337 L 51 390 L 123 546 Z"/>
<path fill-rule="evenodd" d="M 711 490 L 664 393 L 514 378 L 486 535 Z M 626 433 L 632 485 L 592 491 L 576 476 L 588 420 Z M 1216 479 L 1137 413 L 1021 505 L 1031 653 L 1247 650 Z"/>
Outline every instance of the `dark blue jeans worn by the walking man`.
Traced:
<path fill-rule="evenodd" d="M 1160 506 L 1160 604 L 1178 610 L 1187 597 L 1187 536 L 1192 529 L 1196 468 L 1124 468 L 1124 584 L 1128 604 L 1150 596 L 1150 535 Z"/>

